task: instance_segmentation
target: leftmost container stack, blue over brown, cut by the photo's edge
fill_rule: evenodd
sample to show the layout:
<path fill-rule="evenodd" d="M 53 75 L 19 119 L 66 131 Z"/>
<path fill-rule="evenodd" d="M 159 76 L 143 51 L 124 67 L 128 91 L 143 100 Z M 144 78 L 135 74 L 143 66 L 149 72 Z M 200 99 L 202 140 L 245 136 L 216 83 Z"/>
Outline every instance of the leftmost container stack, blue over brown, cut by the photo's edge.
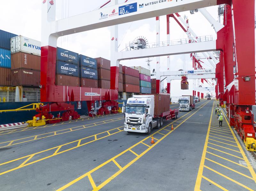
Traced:
<path fill-rule="evenodd" d="M 10 40 L 17 34 L 0 30 L 0 86 L 11 86 L 11 45 Z"/>

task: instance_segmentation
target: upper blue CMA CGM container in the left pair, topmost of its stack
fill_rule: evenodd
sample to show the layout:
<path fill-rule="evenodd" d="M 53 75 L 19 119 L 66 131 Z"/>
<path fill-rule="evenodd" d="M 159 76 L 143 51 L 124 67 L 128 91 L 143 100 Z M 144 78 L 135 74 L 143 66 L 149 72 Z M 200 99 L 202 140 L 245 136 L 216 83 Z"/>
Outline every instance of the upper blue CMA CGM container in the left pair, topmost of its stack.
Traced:
<path fill-rule="evenodd" d="M 69 50 L 57 47 L 57 60 L 78 64 L 78 54 Z"/>

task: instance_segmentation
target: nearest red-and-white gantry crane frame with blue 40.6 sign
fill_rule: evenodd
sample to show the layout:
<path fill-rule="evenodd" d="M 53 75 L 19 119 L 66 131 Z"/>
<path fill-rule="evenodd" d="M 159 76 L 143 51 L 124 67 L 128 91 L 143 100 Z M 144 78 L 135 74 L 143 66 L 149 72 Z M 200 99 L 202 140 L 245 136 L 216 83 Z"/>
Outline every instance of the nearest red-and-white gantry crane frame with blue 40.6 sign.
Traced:
<path fill-rule="evenodd" d="M 222 52 L 220 63 L 222 62 L 223 65 L 218 63 L 221 68 L 219 74 L 223 77 L 221 71 L 225 67 L 226 91 L 223 94 L 223 100 L 228 104 L 229 122 L 237 129 L 247 149 L 255 150 L 255 128 L 252 114 L 252 105 L 255 104 L 255 2 L 247 0 L 163 0 L 152 4 L 151 1 L 137 0 L 117 4 L 117 0 L 112 0 L 110 3 L 111 6 L 100 10 L 55 20 L 56 1 L 42 1 L 41 101 L 55 102 L 56 105 L 67 101 L 88 101 L 90 105 L 95 100 L 115 100 L 118 94 L 120 60 L 220 50 Z M 225 9 L 227 17 L 225 18 L 226 25 L 217 31 L 216 41 L 208 40 L 172 46 L 159 45 L 154 48 L 118 52 L 118 24 L 219 4 L 227 4 L 227 9 Z M 54 76 L 57 39 L 68 34 L 106 26 L 112 26 L 111 34 L 113 35 L 111 37 L 111 89 L 56 86 Z M 158 71 L 156 71 L 156 87 L 159 92 L 160 73 Z"/>

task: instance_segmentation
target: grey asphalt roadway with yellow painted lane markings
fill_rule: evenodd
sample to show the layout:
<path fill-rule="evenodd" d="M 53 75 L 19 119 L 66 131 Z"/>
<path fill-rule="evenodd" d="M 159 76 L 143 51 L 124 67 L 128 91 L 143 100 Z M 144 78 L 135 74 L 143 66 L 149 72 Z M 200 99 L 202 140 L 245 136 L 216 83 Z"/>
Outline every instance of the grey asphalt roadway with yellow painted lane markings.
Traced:
<path fill-rule="evenodd" d="M 164 121 L 155 144 L 124 132 L 123 114 L 0 132 L 0 190 L 256 190 L 256 169 L 213 106 Z"/>

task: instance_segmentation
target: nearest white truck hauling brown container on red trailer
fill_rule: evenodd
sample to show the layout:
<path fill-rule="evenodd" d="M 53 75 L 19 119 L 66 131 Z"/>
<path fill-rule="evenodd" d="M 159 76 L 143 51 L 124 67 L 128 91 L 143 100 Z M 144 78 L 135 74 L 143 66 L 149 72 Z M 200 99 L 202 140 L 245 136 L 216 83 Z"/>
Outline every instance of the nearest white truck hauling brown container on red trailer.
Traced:
<path fill-rule="evenodd" d="M 150 134 L 163 126 L 163 119 L 178 118 L 179 109 L 170 109 L 170 94 L 133 95 L 122 107 L 124 131 Z"/>

